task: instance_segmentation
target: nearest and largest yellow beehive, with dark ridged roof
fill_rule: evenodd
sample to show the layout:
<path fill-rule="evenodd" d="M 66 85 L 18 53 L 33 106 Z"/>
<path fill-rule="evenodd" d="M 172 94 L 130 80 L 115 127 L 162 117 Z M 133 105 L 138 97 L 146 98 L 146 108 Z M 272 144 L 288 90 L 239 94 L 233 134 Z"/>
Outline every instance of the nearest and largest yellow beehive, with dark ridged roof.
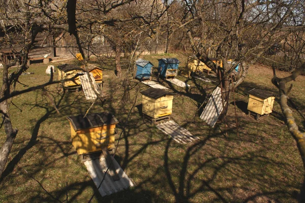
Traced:
<path fill-rule="evenodd" d="M 72 145 L 78 154 L 101 151 L 106 145 L 114 149 L 115 124 L 118 120 L 107 112 L 67 117 L 71 126 Z"/>

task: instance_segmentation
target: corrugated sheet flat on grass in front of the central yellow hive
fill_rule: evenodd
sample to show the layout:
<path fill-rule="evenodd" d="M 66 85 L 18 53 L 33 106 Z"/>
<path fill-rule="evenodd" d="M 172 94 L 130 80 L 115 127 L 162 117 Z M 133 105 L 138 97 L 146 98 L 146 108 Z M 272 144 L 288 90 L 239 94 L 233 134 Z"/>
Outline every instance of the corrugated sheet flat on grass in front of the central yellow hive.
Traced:
<path fill-rule="evenodd" d="M 177 143 L 187 144 L 199 139 L 198 137 L 193 136 L 191 132 L 185 128 L 179 126 L 174 121 L 160 123 L 157 125 L 157 128 L 163 131 L 165 134 L 169 134 L 171 138 Z"/>

